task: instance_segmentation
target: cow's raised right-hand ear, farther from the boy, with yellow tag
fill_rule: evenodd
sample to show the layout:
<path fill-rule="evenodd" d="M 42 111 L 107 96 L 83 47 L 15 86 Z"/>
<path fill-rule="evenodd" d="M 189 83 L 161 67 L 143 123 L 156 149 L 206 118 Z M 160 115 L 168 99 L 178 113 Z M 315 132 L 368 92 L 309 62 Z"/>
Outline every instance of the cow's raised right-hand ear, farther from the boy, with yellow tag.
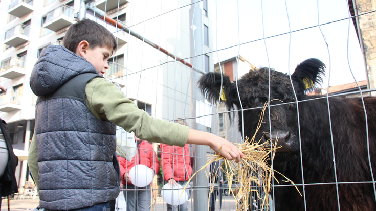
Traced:
<path fill-rule="evenodd" d="M 307 59 L 296 66 L 294 73 L 291 75 L 294 86 L 299 93 L 312 91 L 322 82 L 325 76 L 325 64 L 318 59 Z"/>

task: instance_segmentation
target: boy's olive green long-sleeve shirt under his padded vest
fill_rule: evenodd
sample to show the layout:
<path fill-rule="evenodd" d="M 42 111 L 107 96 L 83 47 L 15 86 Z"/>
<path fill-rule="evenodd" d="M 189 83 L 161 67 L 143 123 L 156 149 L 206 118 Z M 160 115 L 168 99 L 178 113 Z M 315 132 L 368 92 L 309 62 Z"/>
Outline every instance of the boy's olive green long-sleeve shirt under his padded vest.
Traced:
<path fill-rule="evenodd" d="M 138 138 L 150 142 L 184 147 L 188 138 L 188 127 L 178 123 L 152 118 L 127 99 L 124 93 L 104 78 L 95 78 L 86 84 L 86 105 L 101 121 L 109 120 Z M 31 140 L 28 165 L 38 188 L 38 160 L 36 135 Z"/>

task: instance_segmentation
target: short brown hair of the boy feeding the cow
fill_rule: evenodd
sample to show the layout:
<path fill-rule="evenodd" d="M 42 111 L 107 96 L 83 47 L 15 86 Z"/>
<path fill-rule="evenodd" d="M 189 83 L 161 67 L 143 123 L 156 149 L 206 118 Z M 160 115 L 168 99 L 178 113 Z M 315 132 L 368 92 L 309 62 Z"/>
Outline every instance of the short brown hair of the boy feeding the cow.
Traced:
<path fill-rule="evenodd" d="M 115 36 L 91 19 L 77 20 L 75 24 L 72 24 L 65 33 L 63 43 L 65 48 L 75 52 L 82 40 L 86 40 L 91 49 L 97 46 L 109 46 L 114 52 L 118 47 Z"/>

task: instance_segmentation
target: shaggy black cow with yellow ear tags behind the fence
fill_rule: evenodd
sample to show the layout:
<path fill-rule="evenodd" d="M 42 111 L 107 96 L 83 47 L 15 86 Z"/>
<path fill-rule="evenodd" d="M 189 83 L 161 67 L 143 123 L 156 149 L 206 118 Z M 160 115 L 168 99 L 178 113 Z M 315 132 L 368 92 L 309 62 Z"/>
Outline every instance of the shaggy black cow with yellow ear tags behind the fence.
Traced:
<path fill-rule="evenodd" d="M 362 99 L 329 97 L 328 110 L 326 98 L 306 95 L 307 87 L 312 88 L 309 84 L 317 87 L 322 83 L 324 71 L 325 64 L 318 59 L 303 61 L 291 75 L 294 89 L 289 75 L 270 71 L 270 113 L 266 109 L 256 140 L 262 138 L 266 141 L 272 138 L 275 141 L 278 136 L 277 146 L 281 148 L 277 149 L 273 162 L 274 169 L 295 184 L 300 184 L 298 188 L 302 194 L 301 184 L 305 184 L 304 203 L 304 198 L 295 187 L 283 186 L 290 183 L 283 182 L 285 179 L 276 174 L 280 184 L 274 182 L 275 210 L 305 210 L 306 207 L 306 210 L 333 211 L 339 210 L 339 205 L 341 211 L 376 210 L 370 168 L 371 162 L 375 175 L 376 98 L 364 98 L 368 120 L 369 161 Z M 220 73 L 202 76 L 198 85 L 210 102 L 218 102 L 221 89 Z M 237 86 L 240 99 L 236 84 L 231 82 L 229 77 L 223 76 L 222 88 L 227 99 L 223 103 L 229 110 L 235 109 L 235 106 L 240 110 L 242 105 L 245 109 L 244 135 L 252 137 L 260 118 L 260 107 L 268 101 L 269 69 L 251 70 L 238 80 Z M 241 111 L 238 115 L 241 115 Z M 242 132 L 241 118 L 239 131 Z"/>

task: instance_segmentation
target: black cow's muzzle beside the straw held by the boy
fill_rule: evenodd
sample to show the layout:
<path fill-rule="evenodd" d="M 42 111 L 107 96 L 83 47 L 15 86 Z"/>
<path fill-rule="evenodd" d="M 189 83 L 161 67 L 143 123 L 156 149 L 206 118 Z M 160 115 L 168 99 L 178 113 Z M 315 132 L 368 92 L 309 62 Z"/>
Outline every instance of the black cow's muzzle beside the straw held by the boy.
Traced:
<path fill-rule="evenodd" d="M 292 152 L 292 145 L 296 140 L 290 132 L 280 130 L 272 131 L 272 136 L 270 133 L 264 133 L 263 139 L 268 142 L 272 139 L 274 147 L 278 148 L 276 152 Z"/>

